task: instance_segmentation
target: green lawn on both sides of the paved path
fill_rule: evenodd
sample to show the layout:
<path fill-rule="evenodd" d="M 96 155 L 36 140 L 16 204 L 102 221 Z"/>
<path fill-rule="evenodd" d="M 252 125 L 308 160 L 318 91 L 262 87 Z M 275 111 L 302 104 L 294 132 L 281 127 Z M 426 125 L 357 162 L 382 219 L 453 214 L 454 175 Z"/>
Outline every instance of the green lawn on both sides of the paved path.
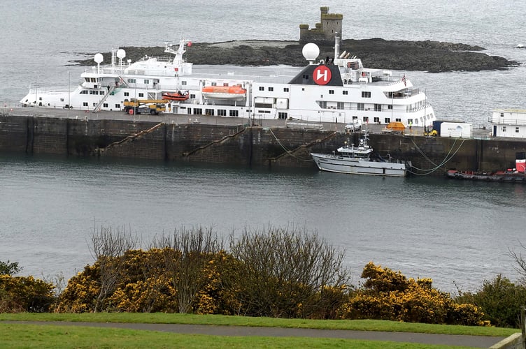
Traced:
<path fill-rule="evenodd" d="M 298 320 L 165 313 L 0 313 L 0 320 L 138 322 L 509 336 L 518 329 L 429 325 L 383 320 Z M 98 327 L 0 322 L 1 348 L 451 348 L 429 344 L 349 339 L 206 336 Z M 460 347 L 456 347 L 460 348 Z"/>

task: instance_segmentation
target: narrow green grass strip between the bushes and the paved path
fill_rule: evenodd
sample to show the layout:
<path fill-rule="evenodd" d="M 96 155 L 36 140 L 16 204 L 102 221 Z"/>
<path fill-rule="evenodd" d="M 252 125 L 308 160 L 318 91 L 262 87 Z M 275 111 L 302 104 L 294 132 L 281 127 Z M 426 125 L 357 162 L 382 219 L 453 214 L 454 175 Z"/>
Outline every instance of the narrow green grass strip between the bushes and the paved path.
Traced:
<path fill-rule="evenodd" d="M 509 336 L 519 329 L 431 325 L 387 320 L 301 320 L 250 318 L 246 316 L 192 315 L 166 313 L 0 313 L 0 320 L 135 322 L 192 325 L 262 326 L 311 329 L 355 329 L 362 331 L 464 334 L 471 336 Z"/>

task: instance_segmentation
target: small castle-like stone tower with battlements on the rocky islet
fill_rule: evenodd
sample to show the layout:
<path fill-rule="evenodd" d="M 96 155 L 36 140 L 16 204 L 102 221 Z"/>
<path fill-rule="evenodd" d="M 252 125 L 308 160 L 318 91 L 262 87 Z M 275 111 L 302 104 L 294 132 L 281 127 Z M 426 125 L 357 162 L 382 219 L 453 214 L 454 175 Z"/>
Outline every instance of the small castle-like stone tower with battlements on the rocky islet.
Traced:
<path fill-rule="evenodd" d="M 343 15 L 340 13 L 329 13 L 328 6 L 320 7 L 320 23 L 316 23 L 313 29 L 308 24 L 299 24 L 300 42 L 334 42 L 336 33 L 341 35 L 341 22 Z"/>

